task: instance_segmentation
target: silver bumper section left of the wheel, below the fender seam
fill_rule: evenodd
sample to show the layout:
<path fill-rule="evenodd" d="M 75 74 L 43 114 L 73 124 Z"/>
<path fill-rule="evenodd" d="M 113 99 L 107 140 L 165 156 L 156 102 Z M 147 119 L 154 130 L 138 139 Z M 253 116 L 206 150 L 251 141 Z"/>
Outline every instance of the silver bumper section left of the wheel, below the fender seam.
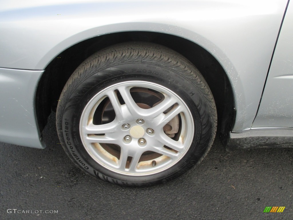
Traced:
<path fill-rule="evenodd" d="M 35 114 L 35 85 L 43 72 L 0 68 L 0 141 L 45 148 Z"/>

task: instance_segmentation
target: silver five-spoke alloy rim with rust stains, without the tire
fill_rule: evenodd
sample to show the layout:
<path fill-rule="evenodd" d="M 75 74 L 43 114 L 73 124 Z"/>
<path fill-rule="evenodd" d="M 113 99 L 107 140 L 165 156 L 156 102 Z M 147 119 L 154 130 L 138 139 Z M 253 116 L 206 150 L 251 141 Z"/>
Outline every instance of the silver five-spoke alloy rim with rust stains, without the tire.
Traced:
<path fill-rule="evenodd" d="M 86 151 L 100 165 L 121 174 L 149 175 L 185 155 L 194 125 L 187 105 L 171 90 L 127 81 L 103 89 L 88 102 L 79 130 Z"/>

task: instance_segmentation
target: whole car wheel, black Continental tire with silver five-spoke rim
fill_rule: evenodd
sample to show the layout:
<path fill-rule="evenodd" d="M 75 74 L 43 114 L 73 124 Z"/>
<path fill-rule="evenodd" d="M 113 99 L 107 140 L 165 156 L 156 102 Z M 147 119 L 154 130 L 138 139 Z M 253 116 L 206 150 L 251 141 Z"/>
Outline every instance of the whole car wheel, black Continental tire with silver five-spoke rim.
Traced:
<path fill-rule="evenodd" d="M 57 131 L 83 170 L 120 185 L 155 185 L 200 163 L 217 112 L 200 72 L 151 43 L 124 43 L 84 61 L 57 106 Z"/>

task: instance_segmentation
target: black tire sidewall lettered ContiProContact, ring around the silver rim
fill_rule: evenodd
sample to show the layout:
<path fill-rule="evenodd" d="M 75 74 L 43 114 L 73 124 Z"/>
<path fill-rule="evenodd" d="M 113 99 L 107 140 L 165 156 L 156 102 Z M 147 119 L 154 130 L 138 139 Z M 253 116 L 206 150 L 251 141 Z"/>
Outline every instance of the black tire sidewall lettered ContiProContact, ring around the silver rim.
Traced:
<path fill-rule="evenodd" d="M 64 92 L 63 111 L 58 111 L 59 138 L 67 154 L 83 170 L 102 180 L 122 185 L 154 185 L 165 183 L 185 173 L 201 160 L 212 139 L 212 120 L 205 96 L 195 82 L 180 71 L 156 64 L 132 62 L 113 65 L 101 70 L 85 71 L 75 89 Z M 195 132 L 192 144 L 184 157 L 162 172 L 146 176 L 129 176 L 110 171 L 96 163 L 86 152 L 79 133 L 79 123 L 84 107 L 100 90 L 125 81 L 146 81 L 160 84 L 175 92 L 188 106 L 193 117 Z M 58 108 L 59 109 L 59 108 Z M 204 137 L 204 138 L 203 138 Z"/>

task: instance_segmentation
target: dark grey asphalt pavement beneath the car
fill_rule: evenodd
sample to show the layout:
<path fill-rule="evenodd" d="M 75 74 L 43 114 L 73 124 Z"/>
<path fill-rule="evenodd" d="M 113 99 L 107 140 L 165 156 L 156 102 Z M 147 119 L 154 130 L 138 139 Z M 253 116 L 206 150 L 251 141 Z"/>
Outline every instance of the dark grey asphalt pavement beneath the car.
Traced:
<path fill-rule="evenodd" d="M 216 138 L 185 175 L 129 188 L 76 167 L 58 144 L 53 114 L 43 137 L 43 150 L 0 143 L 0 219 L 293 219 L 293 148 L 228 152 Z"/>

